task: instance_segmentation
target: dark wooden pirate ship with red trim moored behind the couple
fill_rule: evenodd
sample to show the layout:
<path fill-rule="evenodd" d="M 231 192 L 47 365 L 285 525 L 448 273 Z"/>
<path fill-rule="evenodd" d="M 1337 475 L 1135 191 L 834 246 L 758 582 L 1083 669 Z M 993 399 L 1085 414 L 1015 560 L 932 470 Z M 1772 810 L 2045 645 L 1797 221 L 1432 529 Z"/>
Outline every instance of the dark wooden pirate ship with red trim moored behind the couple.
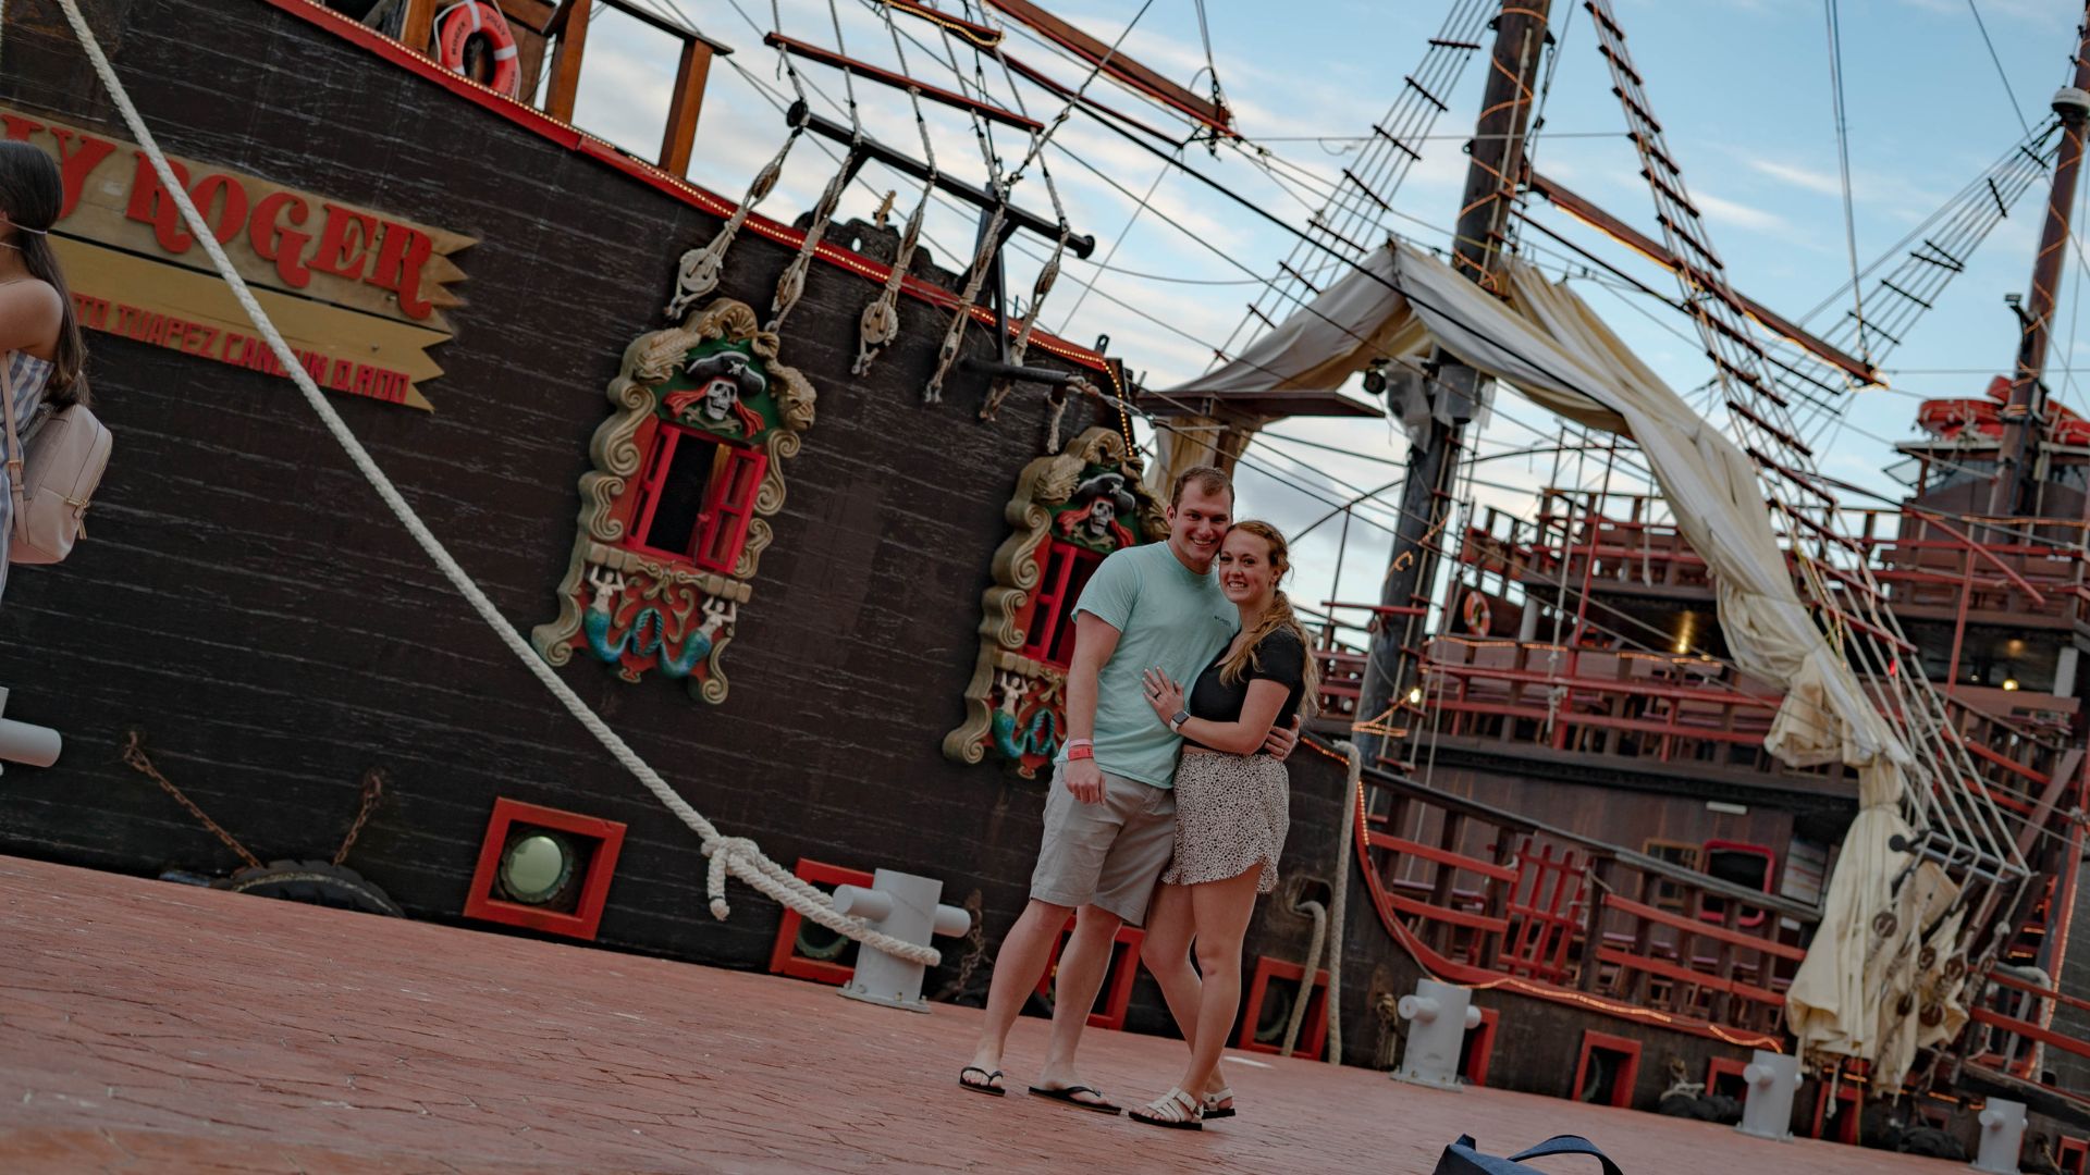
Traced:
<path fill-rule="evenodd" d="M 1356 192 L 1294 230 L 1231 366 L 1150 391 L 1039 330 L 1060 257 L 1093 240 L 1049 180 L 1051 215 L 1014 180 L 1070 115 L 1231 142 L 1216 92 L 1028 2 L 884 0 L 895 48 L 947 40 L 1058 117 L 769 29 L 794 86 L 817 67 L 905 102 L 922 153 L 800 88 L 736 201 L 686 171 L 711 67 L 757 46 L 673 6 L 604 6 L 675 46 L 652 161 L 573 125 L 585 2 L 82 4 L 297 372 L 224 293 L 56 0 L 6 6 L 0 121 L 67 178 L 59 234 L 123 450 L 94 542 L 17 577 L 0 610 L 10 715 L 67 738 L 56 765 L 8 774 L 0 847 L 846 978 L 855 947 L 796 909 L 711 918 L 688 828 L 458 604 L 295 399 L 303 372 L 500 615 L 535 625 L 533 654 L 683 799 L 813 884 L 874 866 L 945 878 L 980 918 L 932 989 L 972 997 L 1024 901 L 1089 569 L 1158 537 L 1152 487 L 1172 470 L 1239 458 L 1273 418 L 1377 414 L 1340 393 L 1365 372 L 1415 441 L 1402 525 L 1384 596 L 1329 602 L 1325 738 L 1294 763 L 1296 863 L 1252 928 L 1237 1043 L 1390 1064 L 1392 999 L 1438 976 L 1482 993 L 1469 1081 L 1701 1110 L 1751 1050 L 1802 1047 L 1822 1079 L 1795 1129 L 1935 1146 L 2004 1096 L 2082 1169 L 2090 450 L 2040 374 L 2090 77 L 1881 280 L 1871 318 L 1814 337 L 1726 282 L 1605 2 L 1588 13 L 1662 240 L 1526 163 L 1549 4 L 1461 0 L 1346 171 Z M 1081 71 L 1014 59 L 1018 25 Z M 1482 59 L 1450 266 L 1361 245 Z M 1014 130 L 1022 163 L 938 165 L 930 117 Z M 832 144 L 836 167 L 784 224 L 761 207 L 800 142 Z M 836 222 L 865 167 L 920 192 L 903 226 Z M 1925 406 L 1908 500 L 1845 506 L 1806 431 L 2034 190 L 2057 247 L 2006 391 Z M 932 199 L 978 217 L 957 270 L 922 245 Z M 1708 410 L 1776 521 L 1768 558 L 1712 542 L 1649 427 L 1611 422 L 1611 381 L 1484 345 L 1511 312 L 1455 284 L 1538 322 L 1545 289 L 1515 261 L 1551 232 L 1532 199 L 1676 274 L 1722 376 Z M 1018 236 L 1049 251 L 1020 314 Z M 1346 284 L 1310 289 L 1302 259 L 1340 261 Z M 1578 477 L 1532 512 L 1469 506 L 1465 433 L 1494 383 L 1551 389 L 1578 429 Z M 1749 575 L 1802 617 L 1785 636 L 1810 686 L 1735 610 Z M 1835 751 L 1795 757 L 1810 715 Z M 1095 1020 L 1166 1031 L 1137 941 L 1122 932 Z M 1822 974 L 1885 995 L 1835 1008 Z M 1795 991 L 1835 1027 L 1795 1039 Z"/>

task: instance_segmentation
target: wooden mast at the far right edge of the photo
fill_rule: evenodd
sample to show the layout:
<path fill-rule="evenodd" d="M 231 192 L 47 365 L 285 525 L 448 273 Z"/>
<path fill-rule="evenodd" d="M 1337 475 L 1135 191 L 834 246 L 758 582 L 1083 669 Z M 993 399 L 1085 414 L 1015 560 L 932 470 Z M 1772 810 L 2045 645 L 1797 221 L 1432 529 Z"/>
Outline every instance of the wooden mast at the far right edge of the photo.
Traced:
<path fill-rule="evenodd" d="M 2017 343 L 2017 370 L 2011 376 L 2011 399 L 2002 410 L 2002 443 L 1998 445 L 1996 487 L 1988 512 L 2025 514 L 2040 510 L 2040 468 L 2031 439 L 2040 435 L 2046 416 L 2046 343 L 2052 339 L 2054 293 L 2061 289 L 2061 263 L 2069 251 L 2069 213 L 2075 207 L 2075 180 L 2084 161 L 2084 119 L 2090 117 L 2090 6 L 2077 27 L 2075 77 L 2054 94 L 2061 115 L 2061 153 L 2054 159 L 2054 188 L 2046 199 L 2046 224 L 2040 230 L 2040 253 L 2031 261 L 2031 295 L 2019 309 L 2023 335 Z"/>

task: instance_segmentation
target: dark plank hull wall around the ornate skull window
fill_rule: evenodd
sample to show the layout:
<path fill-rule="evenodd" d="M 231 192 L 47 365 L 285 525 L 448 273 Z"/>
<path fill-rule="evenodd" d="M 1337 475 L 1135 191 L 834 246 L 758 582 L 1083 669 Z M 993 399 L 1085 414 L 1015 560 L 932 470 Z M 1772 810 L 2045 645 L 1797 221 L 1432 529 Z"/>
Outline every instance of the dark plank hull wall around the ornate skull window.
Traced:
<path fill-rule="evenodd" d="M 602 389 L 625 345 L 663 326 L 677 257 L 719 220 L 263 0 L 88 10 L 169 153 L 479 236 L 460 255 L 458 337 L 437 349 L 437 410 L 334 404 L 502 613 L 525 631 L 550 619 Z M 13 4 L 4 50 L 0 100 L 130 138 L 54 4 Z M 788 259 L 744 234 L 719 293 L 765 309 Z M 1024 389 L 980 422 L 984 378 L 968 374 L 924 406 L 945 314 L 920 301 L 853 378 L 874 293 L 815 266 L 786 330 L 819 416 L 740 610 L 729 698 L 631 686 L 585 656 L 560 673 L 727 834 L 786 863 L 938 876 L 947 901 L 978 891 L 995 941 L 1026 897 L 1045 782 L 953 763 L 940 738 L 963 717 L 1003 506 L 1043 452 L 1047 410 Z M 332 855 L 364 769 L 385 767 L 349 866 L 414 918 L 462 918 L 495 797 L 623 822 L 598 945 L 767 964 L 777 907 L 736 882 L 732 920 L 711 918 L 696 836 L 510 659 L 286 381 L 90 343 L 119 445 L 92 537 L 65 567 L 17 569 L 0 608 L 6 713 L 59 728 L 67 751 L 6 774 L 0 851 L 136 874 L 238 868 L 123 765 L 140 730 L 263 859 Z M 968 349 L 986 347 L 972 330 Z M 1066 435 L 1091 416 L 1076 401 Z M 1296 786 L 1287 868 L 1325 889 L 1342 774 L 1304 759 Z M 1302 918 L 1262 920 L 1256 949 L 1304 951 Z M 1141 1004 L 1158 1022 L 1145 987 Z"/>

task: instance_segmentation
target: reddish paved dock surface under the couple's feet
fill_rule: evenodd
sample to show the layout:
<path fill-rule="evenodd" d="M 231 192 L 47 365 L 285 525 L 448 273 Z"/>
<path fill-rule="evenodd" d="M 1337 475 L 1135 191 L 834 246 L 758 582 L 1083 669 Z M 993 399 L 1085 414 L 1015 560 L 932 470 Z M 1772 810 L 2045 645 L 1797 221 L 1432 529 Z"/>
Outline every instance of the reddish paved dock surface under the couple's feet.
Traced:
<path fill-rule="evenodd" d="M 920 1016 L 765 974 L 15 857 L 0 857 L 0 1171 L 13 1175 L 1427 1175 L 1459 1133 L 1494 1154 L 1580 1133 L 1626 1175 L 1965 1171 L 1279 1058 L 1233 1064 L 1237 1119 L 1162 1131 L 1024 1096 L 1045 1047 L 1037 1018 L 1018 1022 L 1012 1093 L 995 1100 L 955 1083 L 972 1008 Z M 1124 1104 L 1181 1066 L 1179 1041 L 1129 1033 L 1091 1031 L 1083 1054 Z"/>

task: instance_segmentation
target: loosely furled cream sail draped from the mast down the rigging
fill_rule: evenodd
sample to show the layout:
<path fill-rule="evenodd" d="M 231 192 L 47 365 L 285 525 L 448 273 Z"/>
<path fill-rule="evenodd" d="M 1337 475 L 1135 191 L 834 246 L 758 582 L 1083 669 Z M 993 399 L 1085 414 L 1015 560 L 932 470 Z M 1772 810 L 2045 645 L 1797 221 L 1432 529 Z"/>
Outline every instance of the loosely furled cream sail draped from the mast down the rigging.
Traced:
<path fill-rule="evenodd" d="M 1737 665 L 1785 688 L 1766 748 L 1791 765 L 1841 761 L 1858 774 L 1860 811 L 1787 1014 L 1804 1052 L 1898 1066 L 1875 1064 L 1875 1079 L 1891 1087 L 1912 1050 L 1881 993 L 1908 970 L 1904 955 L 1921 939 L 1902 926 L 1921 914 L 1896 909 L 1894 895 L 1910 857 L 1889 847 L 1908 834 L 1908 751 L 1799 600 L 1749 458 L 1572 291 L 1517 261 L 1501 284 L 1507 301 L 1427 253 L 1390 245 L 1195 387 L 1333 391 L 1373 358 L 1440 345 L 1542 408 L 1639 443 L 1685 539 L 1714 573 Z M 1883 1047 L 1889 1037 L 1898 1047 Z"/>

